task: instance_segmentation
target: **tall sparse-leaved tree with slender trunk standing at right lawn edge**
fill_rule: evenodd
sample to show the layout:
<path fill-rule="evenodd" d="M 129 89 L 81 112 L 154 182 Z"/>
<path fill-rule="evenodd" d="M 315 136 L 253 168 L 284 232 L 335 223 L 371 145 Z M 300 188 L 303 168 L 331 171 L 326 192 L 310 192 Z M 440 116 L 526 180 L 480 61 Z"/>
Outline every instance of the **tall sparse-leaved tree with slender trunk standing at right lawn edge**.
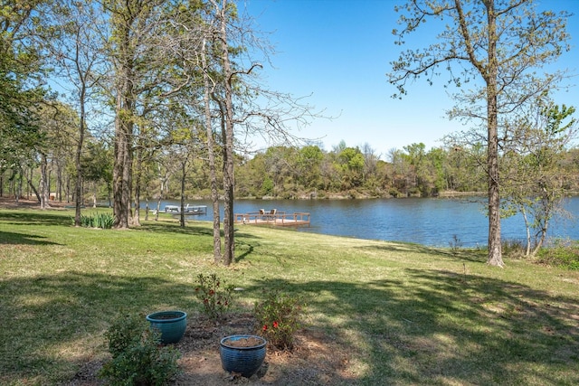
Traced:
<path fill-rule="evenodd" d="M 394 30 L 399 44 L 421 24 L 448 21 L 437 42 L 423 49 L 407 50 L 392 62 L 389 74 L 399 97 L 406 83 L 422 76 L 432 84 L 442 66 L 457 87 L 471 82 L 479 86 L 457 96 L 459 106 L 451 117 L 479 118 L 487 129 L 489 193 L 489 265 L 503 267 L 500 239 L 499 118 L 520 108 L 527 99 L 554 87 L 559 76 L 536 75 L 532 69 L 555 61 L 565 48 L 568 13 L 537 12 L 533 0 L 409 0 L 396 7 L 403 13 Z M 434 22 L 436 23 L 436 22 Z M 457 64 L 455 67 L 452 64 Z M 456 73 L 456 70 L 460 73 Z M 484 101 L 480 105 L 479 101 Z"/>

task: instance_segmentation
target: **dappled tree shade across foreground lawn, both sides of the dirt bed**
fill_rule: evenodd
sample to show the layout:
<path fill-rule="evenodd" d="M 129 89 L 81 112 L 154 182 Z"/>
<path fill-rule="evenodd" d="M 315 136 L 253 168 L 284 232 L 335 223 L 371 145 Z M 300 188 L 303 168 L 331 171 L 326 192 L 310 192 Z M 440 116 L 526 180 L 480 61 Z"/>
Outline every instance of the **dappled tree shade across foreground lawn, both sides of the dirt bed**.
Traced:
<path fill-rule="evenodd" d="M 330 335 L 336 354 L 354 366 L 348 377 L 334 374 L 333 384 L 579 383 L 574 298 L 412 268 L 403 278 L 369 282 L 263 278 L 245 291 L 260 297 L 263 288 L 307 297 L 308 315 L 317 315 L 308 328 Z M 94 359 L 91 344 L 120 312 L 190 310 L 197 306 L 194 293 L 193 286 L 166 279 L 104 273 L 2 280 L 0 383 L 55 383 L 54 373 L 73 374 Z M 315 374 L 312 380 L 327 384 Z"/>

